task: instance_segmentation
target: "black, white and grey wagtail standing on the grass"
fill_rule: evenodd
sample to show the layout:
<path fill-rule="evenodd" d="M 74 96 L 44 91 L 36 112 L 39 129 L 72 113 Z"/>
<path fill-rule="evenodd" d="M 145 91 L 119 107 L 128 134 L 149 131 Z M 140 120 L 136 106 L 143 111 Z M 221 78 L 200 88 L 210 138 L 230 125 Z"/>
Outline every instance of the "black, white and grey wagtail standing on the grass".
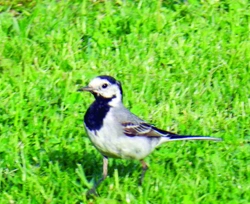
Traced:
<path fill-rule="evenodd" d="M 142 184 L 148 169 L 144 158 L 161 144 L 177 140 L 221 141 L 221 138 L 210 136 L 179 135 L 145 122 L 123 105 L 122 85 L 111 76 L 97 76 L 78 91 L 90 92 L 95 98 L 84 115 L 84 126 L 90 141 L 103 156 L 102 177 L 89 193 L 95 192 L 107 177 L 108 158 L 140 161 L 139 182 Z"/>

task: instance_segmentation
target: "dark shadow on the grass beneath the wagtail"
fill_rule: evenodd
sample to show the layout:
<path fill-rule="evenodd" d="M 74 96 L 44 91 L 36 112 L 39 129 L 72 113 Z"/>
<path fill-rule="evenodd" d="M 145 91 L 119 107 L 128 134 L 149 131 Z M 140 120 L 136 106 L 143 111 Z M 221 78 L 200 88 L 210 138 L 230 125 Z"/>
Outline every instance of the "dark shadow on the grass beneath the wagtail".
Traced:
<path fill-rule="evenodd" d="M 59 164 L 61 171 L 75 172 L 80 164 L 88 181 L 93 179 L 96 181 L 102 177 L 102 156 L 94 150 L 82 152 L 52 150 L 47 154 L 50 162 Z M 133 160 L 109 159 L 108 175 L 112 177 L 116 169 L 119 177 L 130 177 L 134 171 L 140 174 L 141 165 L 140 162 Z"/>

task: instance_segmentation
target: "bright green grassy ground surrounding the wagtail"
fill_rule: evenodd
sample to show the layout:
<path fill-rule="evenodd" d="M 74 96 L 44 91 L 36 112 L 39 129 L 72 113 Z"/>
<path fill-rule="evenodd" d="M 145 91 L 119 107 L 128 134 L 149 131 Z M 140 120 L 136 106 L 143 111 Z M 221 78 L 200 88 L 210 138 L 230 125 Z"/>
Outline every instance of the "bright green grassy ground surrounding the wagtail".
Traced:
<path fill-rule="evenodd" d="M 0 203 L 249 203 L 250 5 L 240 1 L 0 1 Z M 180 134 L 146 160 L 102 159 L 76 92 L 100 74 L 125 105 Z"/>

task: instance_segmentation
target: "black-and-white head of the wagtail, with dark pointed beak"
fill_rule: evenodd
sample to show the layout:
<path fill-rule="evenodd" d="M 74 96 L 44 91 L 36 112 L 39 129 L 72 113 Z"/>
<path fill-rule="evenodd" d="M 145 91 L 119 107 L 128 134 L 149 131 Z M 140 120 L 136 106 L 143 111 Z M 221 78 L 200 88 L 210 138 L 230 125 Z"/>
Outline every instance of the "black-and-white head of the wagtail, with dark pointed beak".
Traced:
<path fill-rule="evenodd" d="M 88 86 L 81 87 L 78 91 L 89 91 L 95 96 L 96 100 L 110 101 L 111 106 L 122 102 L 121 83 L 111 76 L 98 76 L 92 79 Z"/>

